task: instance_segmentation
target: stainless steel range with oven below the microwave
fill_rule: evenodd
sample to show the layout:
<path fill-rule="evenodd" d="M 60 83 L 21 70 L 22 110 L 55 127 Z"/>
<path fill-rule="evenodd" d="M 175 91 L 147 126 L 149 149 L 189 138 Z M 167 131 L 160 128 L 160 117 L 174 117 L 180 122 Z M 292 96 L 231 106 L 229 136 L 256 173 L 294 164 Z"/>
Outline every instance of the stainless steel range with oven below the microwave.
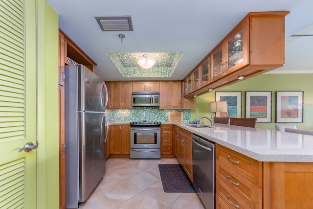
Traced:
<path fill-rule="evenodd" d="M 131 159 L 161 158 L 161 122 L 131 122 Z"/>

